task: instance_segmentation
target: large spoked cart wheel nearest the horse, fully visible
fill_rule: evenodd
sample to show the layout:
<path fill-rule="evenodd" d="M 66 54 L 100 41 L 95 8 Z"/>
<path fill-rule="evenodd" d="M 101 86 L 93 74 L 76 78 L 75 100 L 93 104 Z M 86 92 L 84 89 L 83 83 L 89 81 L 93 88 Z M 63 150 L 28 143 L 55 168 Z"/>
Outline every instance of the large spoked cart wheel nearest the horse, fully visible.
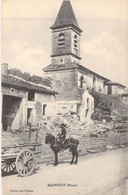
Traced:
<path fill-rule="evenodd" d="M 21 150 L 16 157 L 16 170 L 19 175 L 25 177 L 31 175 L 34 171 L 34 154 L 29 149 Z"/>

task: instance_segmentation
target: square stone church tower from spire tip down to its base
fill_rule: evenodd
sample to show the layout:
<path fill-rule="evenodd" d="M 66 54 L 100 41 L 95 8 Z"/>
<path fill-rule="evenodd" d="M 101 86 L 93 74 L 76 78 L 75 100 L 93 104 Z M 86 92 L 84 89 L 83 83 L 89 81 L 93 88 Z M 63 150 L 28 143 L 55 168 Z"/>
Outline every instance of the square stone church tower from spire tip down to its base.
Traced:
<path fill-rule="evenodd" d="M 58 92 L 58 113 L 73 111 L 79 114 L 86 83 L 79 78 L 78 72 L 82 30 L 78 25 L 70 0 L 63 0 L 51 30 L 51 64 L 43 69 L 44 75 L 52 78 L 53 89 Z"/>

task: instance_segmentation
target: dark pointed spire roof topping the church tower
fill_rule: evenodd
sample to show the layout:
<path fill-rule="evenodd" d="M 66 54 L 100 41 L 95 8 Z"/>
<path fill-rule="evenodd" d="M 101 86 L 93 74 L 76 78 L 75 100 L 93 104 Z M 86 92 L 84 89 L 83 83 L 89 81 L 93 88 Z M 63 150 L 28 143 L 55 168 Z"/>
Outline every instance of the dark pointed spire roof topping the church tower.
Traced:
<path fill-rule="evenodd" d="M 63 0 L 63 3 L 60 7 L 59 13 L 55 20 L 55 23 L 51 26 L 52 30 L 72 26 L 79 32 L 82 32 L 80 29 L 75 14 L 72 9 L 70 0 Z"/>

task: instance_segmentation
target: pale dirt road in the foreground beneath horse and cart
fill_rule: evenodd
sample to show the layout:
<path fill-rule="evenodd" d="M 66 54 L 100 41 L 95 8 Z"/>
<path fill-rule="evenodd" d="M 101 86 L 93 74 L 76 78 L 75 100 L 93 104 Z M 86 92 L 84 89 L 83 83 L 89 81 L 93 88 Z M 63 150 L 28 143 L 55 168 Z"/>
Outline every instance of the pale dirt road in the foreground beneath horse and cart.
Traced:
<path fill-rule="evenodd" d="M 29 177 L 3 177 L 3 195 L 125 195 L 127 156 L 125 148 L 80 157 L 77 165 L 42 164 Z"/>

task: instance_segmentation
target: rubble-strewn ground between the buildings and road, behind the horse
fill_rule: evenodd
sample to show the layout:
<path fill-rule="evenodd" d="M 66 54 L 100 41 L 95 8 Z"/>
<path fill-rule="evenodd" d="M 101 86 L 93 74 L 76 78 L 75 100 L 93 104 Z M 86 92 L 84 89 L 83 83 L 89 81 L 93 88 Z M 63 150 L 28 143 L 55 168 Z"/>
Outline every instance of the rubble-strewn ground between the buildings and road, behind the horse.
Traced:
<path fill-rule="evenodd" d="M 127 117 L 119 116 L 116 113 L 110 114 L 111 121 L 105 120 L 89 120 L 84 123 L 80 121 L 76 113 L 70 112 L 63 115 L 58 115 L 54 121 L 43 125 L 39 129 L 38 142 L 41 142 L 41 158 L 39 162 L 53 162 L 54 155 L 51 148 L 45 144 L 45 134 L 52 133 L 54 136 L 61 131 L 62 123 L 66 126 L 66 138 L 73 137 L 79 140 L 78 152 L 79 155 L 87 155 L 90 153 L 103 152 L 128 146 L 128 120 Z M 122 118 L 123 117 L 123 118 Z M 7 135 L 6 135 L 7 133 Z M 9 140 L 11 143 L 19 144 L 28 142 L 28 132 L 3 132 L 2 145 Z M 5 137 L 5 139 L 4 139 Z M 31 142 L 35 141 L 36 131 L 31 134 Z M 8 141 L 7 141 L 8 139 Z M 13 140 L 13 141 L 12 141 Z M 10 144 L 11 144 L 10 143 Z M 69 151 L 64 151 L 59 154 L 61 160 L 71 158 Z"/>

